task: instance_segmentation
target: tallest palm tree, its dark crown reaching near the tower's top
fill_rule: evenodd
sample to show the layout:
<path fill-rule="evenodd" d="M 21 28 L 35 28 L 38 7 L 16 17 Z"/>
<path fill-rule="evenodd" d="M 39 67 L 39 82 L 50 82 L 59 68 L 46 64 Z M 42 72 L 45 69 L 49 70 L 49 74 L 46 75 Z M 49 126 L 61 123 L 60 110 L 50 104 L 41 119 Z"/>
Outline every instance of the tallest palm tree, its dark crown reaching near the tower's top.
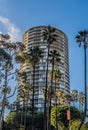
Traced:
<path fill-rule="evenodd" d="M 56 41 L 57 35 L 55 34 L 56 29 L 48 26 L 43 30 L 44 41 L 47 41 L 47 69 L 46 69 L 46 85 L 45 85 L 45 102 L 44 102 L 44 130 L 47 130 L 47 111 L 46 111 L 46 99 L 47 99 L 47 86 L 48 86 L 48 63 L 49 63 L 49 51 L 50 45 Z"/>

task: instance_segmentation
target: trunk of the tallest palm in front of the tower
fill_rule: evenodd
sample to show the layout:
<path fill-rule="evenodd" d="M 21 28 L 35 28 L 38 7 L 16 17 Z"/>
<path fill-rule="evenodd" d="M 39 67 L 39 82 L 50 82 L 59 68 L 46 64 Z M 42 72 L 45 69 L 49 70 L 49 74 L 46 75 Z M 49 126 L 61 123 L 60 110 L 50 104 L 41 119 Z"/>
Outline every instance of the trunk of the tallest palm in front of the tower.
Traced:
<path fill-rule="evenodd" d="M 49 50 L 50 44 L 48 43 L 48 53 L 47 53 L 47 69 L 46 69 L 46 85 L 45 85 L 45 100 L 44 100 L 44 121 L 43 121 L 43 130 L 47 130 L 47 109 L 46 109 L 46 101 L 47 101 L 47 85 L 48 85 L 48 61 L 49 61 Z"/>

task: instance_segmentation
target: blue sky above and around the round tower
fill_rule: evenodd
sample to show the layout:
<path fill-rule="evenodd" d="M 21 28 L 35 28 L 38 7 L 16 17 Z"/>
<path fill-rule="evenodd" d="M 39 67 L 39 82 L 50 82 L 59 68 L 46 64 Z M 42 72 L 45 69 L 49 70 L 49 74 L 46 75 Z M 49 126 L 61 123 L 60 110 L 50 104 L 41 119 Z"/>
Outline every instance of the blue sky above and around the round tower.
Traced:
<path fill-rule="evenodd" d="M 13 41 L 37 25 L 52 25 L 68 37 L 70 87 L 84 90 L 83 48 L 75 41 L 78 31 L 88 29 L 88 0 L 0 0 L 0 32 Z M 14 34 L 14 35 L 13 35 Z"/>

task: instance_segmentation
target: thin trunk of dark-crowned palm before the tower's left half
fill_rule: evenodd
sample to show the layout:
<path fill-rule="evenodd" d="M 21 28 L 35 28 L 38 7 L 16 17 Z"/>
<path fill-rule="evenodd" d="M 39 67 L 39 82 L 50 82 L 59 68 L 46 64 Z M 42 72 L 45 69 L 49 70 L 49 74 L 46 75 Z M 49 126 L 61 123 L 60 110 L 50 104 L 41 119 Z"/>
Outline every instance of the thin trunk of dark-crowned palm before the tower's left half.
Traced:
<path fill-rule="evenodd" d="M 34 130 L 34 84 L 35 84 L 35 63 L 33 65 L 32 130 Z"/>

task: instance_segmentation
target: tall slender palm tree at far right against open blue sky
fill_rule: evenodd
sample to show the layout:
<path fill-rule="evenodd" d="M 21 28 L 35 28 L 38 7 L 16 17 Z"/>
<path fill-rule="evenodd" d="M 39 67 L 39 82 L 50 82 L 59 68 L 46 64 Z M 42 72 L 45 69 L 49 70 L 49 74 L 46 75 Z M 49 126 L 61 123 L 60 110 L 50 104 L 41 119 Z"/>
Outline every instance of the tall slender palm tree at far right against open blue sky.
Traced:
<path fill-rule="evenodd" d="M 78 35 L 75 37 L 76 38 L 76 42 L 79 43 L 79 47 L 83 44 L 83 48 L 84 48 L 84 89 L 85 89 L 85 108 L 84 108 L 84 114 L 83 114 L 83 118 L 81 120 L 79 129 L 82 127 L 82 124 L 85 120 L 86 117 L 86 111 L 87 111 L 87 74 L 86 74 L 86 49 L 88 47 L 88 31 L 84 30 L 84 31 L 80 31 L 78 32 Z"/>

